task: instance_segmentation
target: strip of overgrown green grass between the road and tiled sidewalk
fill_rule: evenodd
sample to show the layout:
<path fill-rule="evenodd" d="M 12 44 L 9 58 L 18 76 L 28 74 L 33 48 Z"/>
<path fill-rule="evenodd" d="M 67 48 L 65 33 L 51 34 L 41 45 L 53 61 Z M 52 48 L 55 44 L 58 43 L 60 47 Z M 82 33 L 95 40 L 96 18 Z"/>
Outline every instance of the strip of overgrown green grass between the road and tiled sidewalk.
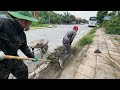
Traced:
<path fill-rule="evenodd" d="M 76 53 L 81 51 L 81 49 L 87 45 L 87 44 L 91 44 L 93 42 L 93 38 L 94 38 L 94 34 L 96 32 L 98 27 L 93 28 L 92 30 L 90 30 L 90 32 L 88 32 L 85 36 L 83 36 L 73 47 L 73 49 L 75 49 Z"/>

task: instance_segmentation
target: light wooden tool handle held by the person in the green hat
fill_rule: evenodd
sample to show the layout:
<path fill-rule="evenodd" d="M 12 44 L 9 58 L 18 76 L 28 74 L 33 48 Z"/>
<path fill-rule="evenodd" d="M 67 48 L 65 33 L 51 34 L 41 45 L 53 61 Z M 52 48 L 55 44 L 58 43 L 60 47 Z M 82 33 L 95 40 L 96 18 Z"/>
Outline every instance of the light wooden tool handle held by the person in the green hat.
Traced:
<path fill-rule="evenodd" d="M 35 60 L 34 58 L 18 57 L 18 56 L 11 56 L 11 55 L 5 55 L 4 58 L 5 59 L 16 59 L 16 60 Z M 50 60 L 42 60 L 42 59 L 39 59 L 39 60 L 43 62 L 50 62 Z"/>

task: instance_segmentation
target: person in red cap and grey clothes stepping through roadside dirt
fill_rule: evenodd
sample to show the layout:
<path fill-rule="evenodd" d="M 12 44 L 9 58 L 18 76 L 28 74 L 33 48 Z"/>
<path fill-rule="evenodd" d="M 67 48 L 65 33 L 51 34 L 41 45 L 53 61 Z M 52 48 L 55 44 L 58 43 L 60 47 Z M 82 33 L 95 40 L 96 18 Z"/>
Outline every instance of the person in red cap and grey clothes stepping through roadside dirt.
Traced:
<path fill-rule="evenodd" d="M 65 34 L 63 38 L 63 45 L 65 47 L 64 57 L 59 59 L 60 67 L 63 68 L 63 63 L 66 59 L 68 59 L 71 55 L 71 44 L 73 42 L 74 37 L 76 36 L 76 32 L 78 31 L 78 26 L 74 26 L 72 31 L 69 31 Z"/>

